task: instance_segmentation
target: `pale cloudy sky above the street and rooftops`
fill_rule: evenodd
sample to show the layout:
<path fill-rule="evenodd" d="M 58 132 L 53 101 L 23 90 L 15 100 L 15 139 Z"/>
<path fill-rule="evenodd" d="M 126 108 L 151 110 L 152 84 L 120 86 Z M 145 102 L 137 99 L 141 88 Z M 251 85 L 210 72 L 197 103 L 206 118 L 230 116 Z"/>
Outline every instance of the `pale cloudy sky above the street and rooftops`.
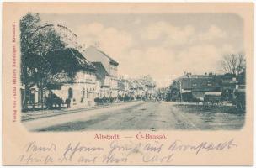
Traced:
<path fill-rule="evenodd" d="M 125 77 L 150 75 L 167 87 L 184 74 L 221 73 L 223 55 L 243 52 L 243 18 L 233 13 L 45 14 L 81 45 L 95 45 L 119 62 Z"/>

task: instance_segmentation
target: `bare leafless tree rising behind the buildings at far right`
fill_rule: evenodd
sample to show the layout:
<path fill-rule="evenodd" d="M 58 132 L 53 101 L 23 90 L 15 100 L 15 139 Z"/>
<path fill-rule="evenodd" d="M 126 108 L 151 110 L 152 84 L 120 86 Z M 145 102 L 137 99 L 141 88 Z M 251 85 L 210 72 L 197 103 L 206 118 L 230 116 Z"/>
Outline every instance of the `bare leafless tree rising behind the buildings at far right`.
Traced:
<path fill-rule="evenodd" d="M 245 69 L 245 58 L 242 53 L 224 55 L 221 61 L 222 70 L 226 73 L 238 75 Z"/>

